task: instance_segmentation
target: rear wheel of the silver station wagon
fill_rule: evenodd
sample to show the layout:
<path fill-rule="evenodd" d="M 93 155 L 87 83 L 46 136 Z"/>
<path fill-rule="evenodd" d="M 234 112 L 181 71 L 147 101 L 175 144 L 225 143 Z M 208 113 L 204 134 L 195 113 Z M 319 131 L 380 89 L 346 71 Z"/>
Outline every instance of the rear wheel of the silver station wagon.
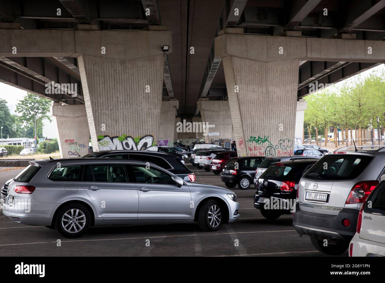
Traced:
<path fill-rule="evenodd" d="M 65 214 L 67 214 L 67 216 L 65 216 Z M 83 216 L 79 218 L 79 216 L 81 215 Z M 75 223 L 77 224 L 76 226 L 72 224 L 74 223 L 74 221 L 69 221 L 69 216 L 71 216 L 72 218 L 77 217 L 77 219 L 79 219 L 78 221 L 75 221 Z M 68 219 L 68 221 L 62 221 L 62 219 Z M 84 220 L 85 222 L 82 222 Z M 84 225 L 82 223 L 84 223 Z M 69 226 L 66 227 L 67 224 L 69 224 Z M 90 212 L 84 205 L 78 203 L 70 203 L 63 206 L 57 213 L 55 219 L 55 229 L 59 232 L 60 235 L 64 236 L 65 238 L 79 238 L 83 236 L 90 228 L 90 224 Z M 76 230 L 79 229 L 79 226 L 81 226 L 82 228 L 78 232 L 76 232 Z"/>

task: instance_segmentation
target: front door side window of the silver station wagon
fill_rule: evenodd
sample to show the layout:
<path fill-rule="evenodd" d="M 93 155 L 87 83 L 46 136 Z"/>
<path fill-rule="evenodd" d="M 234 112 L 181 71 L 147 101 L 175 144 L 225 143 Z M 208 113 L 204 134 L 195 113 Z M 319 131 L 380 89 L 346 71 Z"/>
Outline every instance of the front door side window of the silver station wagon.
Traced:
<path fill-rule="evenodd" d="M 169 174 L 155 167 L 136 164 L 133 164 L 131 167 L 136 178 L 136 183 L 175 185 L 175 182 Z"/>

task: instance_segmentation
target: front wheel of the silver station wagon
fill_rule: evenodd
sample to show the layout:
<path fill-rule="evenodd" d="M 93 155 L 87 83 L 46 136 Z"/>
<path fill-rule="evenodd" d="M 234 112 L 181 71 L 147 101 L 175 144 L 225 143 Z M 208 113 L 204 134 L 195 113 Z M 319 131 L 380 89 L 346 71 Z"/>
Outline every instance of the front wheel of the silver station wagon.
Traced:
<path fill-rule="evenodd" d="M 214 218 L 213 215 L 214 214 Z M 221 228 L 223 223 L 223 211 L 219 206 L 218 201 L 208 199 L 199 210 L 198 224 L 205 232 L 214 232 Z"/>

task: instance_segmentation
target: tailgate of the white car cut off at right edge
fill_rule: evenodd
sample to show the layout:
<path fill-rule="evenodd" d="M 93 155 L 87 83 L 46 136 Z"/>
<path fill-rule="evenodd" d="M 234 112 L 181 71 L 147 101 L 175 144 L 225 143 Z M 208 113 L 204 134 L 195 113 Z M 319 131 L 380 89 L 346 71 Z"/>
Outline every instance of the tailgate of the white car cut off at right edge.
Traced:
<path fill-rule="evenodd" d="M 385 181 L 372 192 L 362 211 L 360 238 L 385 244 Z"/>

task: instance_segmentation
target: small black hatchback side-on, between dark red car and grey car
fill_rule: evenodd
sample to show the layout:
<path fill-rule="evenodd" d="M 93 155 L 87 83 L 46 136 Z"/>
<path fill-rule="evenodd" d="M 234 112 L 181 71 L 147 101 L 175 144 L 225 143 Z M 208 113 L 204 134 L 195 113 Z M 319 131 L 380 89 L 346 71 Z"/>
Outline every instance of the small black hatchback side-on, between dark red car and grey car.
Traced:
<path fill-rule="evenodd" d="M 230 158 L 223 168 L 221 181 L 228 188 L 234 188 L 238 184 L 239 189 L 247 190 L 253 182 L 255 170 L 263 159 L 264 156 Z"/>

